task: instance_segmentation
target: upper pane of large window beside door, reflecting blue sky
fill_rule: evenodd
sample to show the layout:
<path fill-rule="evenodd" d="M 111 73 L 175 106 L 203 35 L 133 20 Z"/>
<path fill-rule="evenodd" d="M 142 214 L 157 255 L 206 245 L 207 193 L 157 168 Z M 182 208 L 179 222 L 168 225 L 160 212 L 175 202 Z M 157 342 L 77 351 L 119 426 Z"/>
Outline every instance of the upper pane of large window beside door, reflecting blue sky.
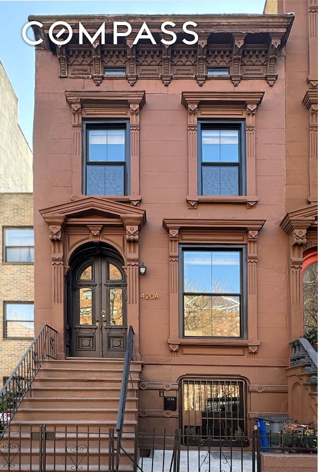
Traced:
<path fill-rule="evenodd" d="M 239 251 L 185 251 L 184 291 L 239 293 Z"/>

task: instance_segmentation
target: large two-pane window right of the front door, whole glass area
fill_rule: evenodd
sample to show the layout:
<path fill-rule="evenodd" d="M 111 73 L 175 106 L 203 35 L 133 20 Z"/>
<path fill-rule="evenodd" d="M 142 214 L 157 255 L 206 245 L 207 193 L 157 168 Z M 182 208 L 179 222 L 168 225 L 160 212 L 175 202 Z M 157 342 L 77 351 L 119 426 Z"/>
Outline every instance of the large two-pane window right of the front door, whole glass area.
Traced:
<path fill-rule="evenodd" d="M 242 249 L 183 250 L 183 336 L 242 336 Z"/>

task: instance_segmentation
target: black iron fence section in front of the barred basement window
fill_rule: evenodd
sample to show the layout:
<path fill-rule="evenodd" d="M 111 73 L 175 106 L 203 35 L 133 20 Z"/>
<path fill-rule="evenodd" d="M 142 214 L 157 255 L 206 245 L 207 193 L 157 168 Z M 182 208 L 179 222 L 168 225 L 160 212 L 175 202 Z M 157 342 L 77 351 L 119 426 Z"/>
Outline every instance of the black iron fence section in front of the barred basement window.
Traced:
<path fill-rule="evenodd" d="M 208 435 L 189 439 L 180 429 L 174 435 L 142 431 L 138 442 L 136 472 L 260 472 L 258 431 L 240 440 Z"/>

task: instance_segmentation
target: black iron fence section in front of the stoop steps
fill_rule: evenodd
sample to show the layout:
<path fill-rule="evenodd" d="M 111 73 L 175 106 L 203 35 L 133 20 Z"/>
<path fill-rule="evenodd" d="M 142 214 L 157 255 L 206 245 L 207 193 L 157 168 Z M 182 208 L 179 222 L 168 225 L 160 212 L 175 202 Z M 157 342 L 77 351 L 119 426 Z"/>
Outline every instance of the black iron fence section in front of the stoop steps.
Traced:
<path fill-rule="evenodd" d="M 0 440 L 0 471 L 113 471 L 114 428 L 13 424 Z"/>

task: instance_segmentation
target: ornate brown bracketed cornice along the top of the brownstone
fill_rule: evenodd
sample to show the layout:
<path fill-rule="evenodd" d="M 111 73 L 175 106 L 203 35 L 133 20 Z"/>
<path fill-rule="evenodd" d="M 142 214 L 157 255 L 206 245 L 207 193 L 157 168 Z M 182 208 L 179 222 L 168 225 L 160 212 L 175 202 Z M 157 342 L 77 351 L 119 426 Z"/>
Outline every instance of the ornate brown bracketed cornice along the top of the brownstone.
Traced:
<path fill-rule="evenodd" d="M 199 86 L 207 80 L 229 79 L 237 86 L 242 79 L 264 79 L 272 86 L 277 79 L 276 61 L 282 54 L 294 20 L 292 14 L 283 15 L 125 15 L 125 22 L 132 27 L 131 33 L 119 38 L 121 44 L 111 41 L 113 22 L 121 21 L 115 15 L 105 16 L 30 16 L 43 24 L 33 25 L 35 38 L 42 39 L 37 49 L 45 49 L 57 56 L 60 77 L 91 78 L 96 86 L 103 80 L 127 80 L 134 86 L 138 79 L 159 79 L 166 86 L 172 79 L 196 80 Z M 54 44 L 49 38 L 49 28 L 55 21 L 72 25 L 73 37 L 66 45 Z M 170 41 L 171 36 L 161 31 L 164 21 L 173 21 L 171 29 L 176 35 L 175 43 L 165 45 L 161 39 Z M 146 22 L 156 38 L 133 44 L 143 22 Z M 198 34 L 193 45 L 182 43 L 182 25 L 194 21 L 192 27 Z M 106 44 L 100 36 L 93 44 L 85 40 L 79 45 L 79 22 L 92 34 L 105 23 Z M 61 39 L 64 36 L 61 35 Z M 192 36 L 191 36 L 191 39 Z M 125 75 L 104 74 L 104 67 L 125 67 Z M 209 75 L 208 67 L 229 67 L 224 76 Z"/>

